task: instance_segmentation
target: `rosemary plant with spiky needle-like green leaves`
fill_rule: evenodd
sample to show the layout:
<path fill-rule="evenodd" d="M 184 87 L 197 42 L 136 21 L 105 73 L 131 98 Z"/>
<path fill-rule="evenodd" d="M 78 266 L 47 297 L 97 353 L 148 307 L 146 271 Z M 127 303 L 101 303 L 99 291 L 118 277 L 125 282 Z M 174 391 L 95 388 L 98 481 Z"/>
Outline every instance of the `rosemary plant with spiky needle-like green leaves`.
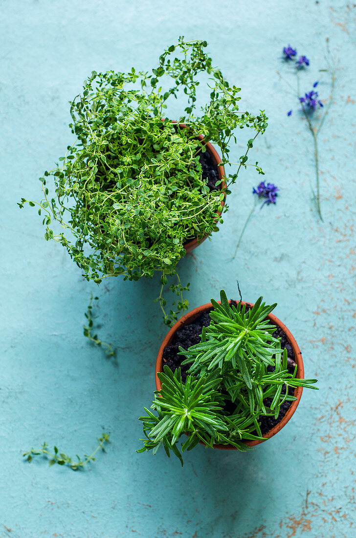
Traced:
<path fill-rule="evenodd" d="M 262 439 L 260 417 L 277 419 L 283 402 L 295 400 L 288 388 L 316 388 L 316 379 L 296 377 L 297 366 L 288 371 L 287 350 L 267 318 L 275 304 L 266 306 L 260 297 L 246 309 L 241 303 L 229 305 L 224 291 L 220 298 L 221 305 L 211 300 L 211 322 L 203 327 L 201 342 L 180 348 L 182 364 L 190 364 L 186 382 L 180 368 L 172 372 L 165 365 L 157 374 L 162 388 L 151 406 L 156 414 L 145 408 L 147 415 L 140 417 L 146 440 L 138 452 L 156 454 L 163 446 L 183 464 L 182 452 L 200 441 L 246 451 L 244 441 Z M 184 433 L 180 451 L 177 441 Z"/>

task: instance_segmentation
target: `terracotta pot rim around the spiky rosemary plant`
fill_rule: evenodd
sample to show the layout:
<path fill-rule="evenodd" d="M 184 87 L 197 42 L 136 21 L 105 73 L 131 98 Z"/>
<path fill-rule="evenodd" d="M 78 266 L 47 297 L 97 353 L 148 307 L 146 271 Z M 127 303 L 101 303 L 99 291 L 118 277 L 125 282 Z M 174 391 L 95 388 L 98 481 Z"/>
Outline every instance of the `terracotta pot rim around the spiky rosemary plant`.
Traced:
<path fill-rule="evenodd" d="M 218 302 L 220 304 L 220 301 L 218 301 Z M 240 301 L 236 301 L 236 302 L 240 302 Z M 231 303 L 231 300 L 229 301 L 229 303 Z M 241 301 L 241 304 L 253 307 L 253 303 L 246 303 L 244 301 Z M 191 310 L 190 312 L 188 312 L 188 314 L 181 317 L 181 319 L 178 320 L 173 325 L 172 329 L 170 329 L 170 331 L 168 332 L 167 336 L 165 337 L 165 339 L 163 340 L 163 342 L 161 344 L 161 347 L 159 349 L 158 356 L 157 356 L 157 359 L 156 359 L 155 380 L 156 380 L 156 389 L 158 391 L 161 389 L 161 381 L 158 379 L 157 372 L 162 372 L 163 371 L 163 365 L 162 365 L 162 363 L 163 363 L 163 350 L 165 349 L 166 345 L 169 345 L 170 342 L 172 342 L 173 335 L 175 334 L 175 332 L 177 330 L 179 330 L 184 325 L 189 325 L 190 323 L 193 323 L 196 320 L 197 317 L 201 316 L 207 310 L 210 311 L 211 309 L 212 309 L 212 304 L 207 303 L 206 305 L 202 305 L 202 306 L 200 306 L 198 308 L 195 308 L 194 310 Z M 274 316 L 273 314 L 269 314 L 268 317 L 269 317 L 271 323 L 273 323 L 274 325 L 277 325 L 277 327 L 280 327 L 284 331 L 284 333 L 286 334 L 288 342 L 290 343 L 290 345 L 293 348 L 294 356 L 295 356 L 295 362 L 296 362 L 297 367 L 298 367 L 296 377 L 298 379 L 304 379 L 304 366 L 303 366 L 302 353 L 301 353 L 300 349 L 298 348 L 298 344 L 296 343 L 294 336 L 287 329 L 286 325 L 284 325 L 284 323 L 282 323 L 276 316 Z M 276 433 L 278 433 L 283 428 L 283 426 L 286 426 L 287 422 L 291 419 L 291 416 L 294 414 L 296 408 L 298 407 L 298 404 L 299 404 L 301 396 L 302 396 L 302 392 L 303 392 L 303 387 L 296 387 L 295 388 L 294 396 L 295 396 L 296 400 L 291 402 L 291 405 L 290 405 L 289 409 L 287 410 L 287 413 L 283 416 L 282 420 L 279 423 L 277 423 L 271 430 L 267 431 L 267 433 L 265 433 L 262 436 L 262 437 L 265 438 L 265 440 L 269 439 L 270 437 L 273 437 Z M 248 445 L 249 447 L 254 447 L 257 444 L 264 443 L 264 441 L 244 441 L 244 443 L 246 445 Z M 213 447 L 214 448 L 219 448 L 219 449 L 222 449 L 222 450 L 237 450 L 236 448 L 232 447 L 231 445 L 226 445 L 226 444 L 214 444 Z"/>

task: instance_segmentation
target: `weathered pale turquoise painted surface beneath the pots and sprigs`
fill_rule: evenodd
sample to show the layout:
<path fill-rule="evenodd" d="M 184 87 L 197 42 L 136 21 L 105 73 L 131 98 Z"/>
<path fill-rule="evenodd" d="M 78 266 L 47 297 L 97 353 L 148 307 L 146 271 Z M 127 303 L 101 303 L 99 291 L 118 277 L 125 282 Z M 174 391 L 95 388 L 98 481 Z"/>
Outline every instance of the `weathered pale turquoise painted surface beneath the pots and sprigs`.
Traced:
<path fill-rule="evenodd" d="M 354 537 L 355 516 L 355 18 L 350 3 L 208 0 L 2 0 L 1 5 L 1 365 L 0 537 L 184 538 Z M 206 39 L 246 108 L 265 108 L 266 135 L 254 150 L 265 178 L 281 188 L 276 207 L 253 217 L 238 257 L 227 263 L 259 177 L 241 173 L 230 212 L 212 241 L 180 263 L 191 308 L 224 287 L 245 300 L 264 294 L 302 349 L 304 391 L 283 431 L 248 454 L 197 447 L 179 461 L 138 455 L 137 416 L 154 388 L 166 329 L 158 279 L 105 281 L 97 290 L 62 247 L 46 243 L 37 178 L 71 134 L 68 100 L 92 69 L 155 66 L 183 34 Z M 333 108 L 321 135 L 324 224 L 311 206 L 310 133 L 276 74 L 290 43 L 311 59 L 305 90 L 325 67 L 325 39 L 339 60 Z M 326 77 L 324 77 L 326 81 Z M 320 85 L 329 95 L 327 83 Z M 294 107 L 295 108 L 295 107 Z M 233 150 L 238 159 L 241 148 Z M 90 291 L 100 296 L 99 334 L 117 363 L 82 336 Z M 22 451 L 44 440 L 68 454 L 106 454 L 83 472 Z"/>

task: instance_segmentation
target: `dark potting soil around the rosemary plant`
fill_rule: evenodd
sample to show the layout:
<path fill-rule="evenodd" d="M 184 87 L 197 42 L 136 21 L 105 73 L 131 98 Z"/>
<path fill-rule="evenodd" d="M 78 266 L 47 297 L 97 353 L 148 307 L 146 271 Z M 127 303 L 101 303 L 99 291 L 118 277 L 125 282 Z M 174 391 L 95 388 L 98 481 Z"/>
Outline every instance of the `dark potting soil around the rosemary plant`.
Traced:
<path fill-rule="evenodd" d="M 237 305 L 236 301 L 232 301 L 234 306 Z M 202 328 L 208 327 L 210 324 L 209 312 L 204 312 L 201 316 L 197 317 L 193 323 L 185 325 L 181 329 L 177 330 L 173 336 L 172 342 L 169 345 L 166 345 L 163 350 L 163 363 L 167 364 L 169 368 L 174 372 L 176 368 L 181 367 L 182 370 L 182 379 L 183 381 L 187 378 L 187 371 L 189 370 L 189 364 L 181 364 L 184 360 L 183 355 L 178 355 L 179 348 L 188 349 L 191 345 L 198 344 L 200 342 L 200 336 L 202 334 Z M 276 338 L 281 338 L 281 348 L 287 349 L 288 355 L 288 371 L 293 374 L 295 367 L 295 355 L 292 346 L 290 345 L 285 332 L 280 328 L 276 327 L 276 330 L 273 332 L 273 336 Z M 267 367 L 268 371 L 272 371 L 272 367 Z M 283 387 L 282 394 L 286 394 L 286 388 Z M 294 395 L 294 390 L 288 388 L 288 394 Z M 272 399 L 266 398 L 264 400 L 265 405 L 269 406 L 272 403 Z M 261 424 L 261 433 L 265 434 L 267 431 L 272 429 L 278 422 L 280 422 L 283 416 L 287 413 L 291 405 L 290 401 L 285 401 L 281 405 L 280 413 L 277 419 L 274 416 L 260 416 Z"/>

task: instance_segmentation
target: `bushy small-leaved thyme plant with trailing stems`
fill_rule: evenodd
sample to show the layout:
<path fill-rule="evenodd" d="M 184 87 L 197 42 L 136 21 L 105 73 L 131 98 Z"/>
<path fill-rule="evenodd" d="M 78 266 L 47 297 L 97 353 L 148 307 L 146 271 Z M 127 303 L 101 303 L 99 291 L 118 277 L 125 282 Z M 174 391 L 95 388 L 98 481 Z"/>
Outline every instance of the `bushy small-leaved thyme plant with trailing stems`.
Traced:
<path fill-rule="evenodd" d="M 264 111 L 239 110 L 240 88 L 213 66 L 206 46 L 181 37 L 150 72 L 93 71 L 70 102 L 76 140 L 40 178 L 43 199 L 19 202 L 20 208 L 26 202 L 38 207 L 45 239 L 61 243 L 87 280 L 118 275 L 138 280 L 160 271 L 165 286 L 186 252 L 184 244 L 211 235 L 223 222 L 217 215 L 221 202 L 247 166 L 247 153 L 267 118 Z M 198 108 L 204 75 L 209 97 Z M 172 118 L 169 104 L 180 95 L 186 103 L 181 116 Z M 230 143 L 245 127 L 252 134 L 226 187 L 218 181 L 209 188 L 201 164 L 205 143 L 218 146 L 227 166 Z M 262 173 L 258 162 L 253 166 Z M 162 292 L 158 298 L 167 324 L 188 307 L 181 295 L 186 286 L 171 288 L 179 295 L 176 311 L 166 314 Z"/>

